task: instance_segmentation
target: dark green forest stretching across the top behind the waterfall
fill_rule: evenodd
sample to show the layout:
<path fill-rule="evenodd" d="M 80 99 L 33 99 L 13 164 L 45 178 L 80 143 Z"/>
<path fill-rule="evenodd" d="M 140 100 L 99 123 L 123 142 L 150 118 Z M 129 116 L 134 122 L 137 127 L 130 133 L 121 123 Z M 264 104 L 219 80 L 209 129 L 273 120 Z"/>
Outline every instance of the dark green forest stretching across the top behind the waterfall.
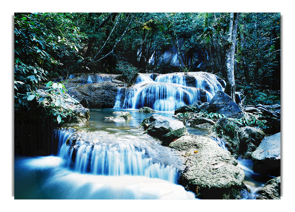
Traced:
<path fill-rule="evenodd" d="M 234 18 L 232 84 L 248 104 L 279 103 L 280 14 Z M 227 79 L 230 13 L 16 13 L 14 24 L 17 105 L 45 82 L 80 72 L 122 74 L 129 83 L 137 73 L 206 71 Z M 172 46 L 180 65 L 150 62 Z"/>

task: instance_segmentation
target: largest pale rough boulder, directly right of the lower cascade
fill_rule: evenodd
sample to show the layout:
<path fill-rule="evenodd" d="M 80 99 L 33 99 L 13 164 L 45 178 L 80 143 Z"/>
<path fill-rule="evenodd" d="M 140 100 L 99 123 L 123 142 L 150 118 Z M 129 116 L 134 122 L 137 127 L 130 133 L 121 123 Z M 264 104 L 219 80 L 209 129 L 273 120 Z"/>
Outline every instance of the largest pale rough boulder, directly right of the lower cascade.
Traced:
<path fill-rule="evenodd" d="M 179 183 L 201 199 L 240 199 L 244 172 L 237 167 L 236 159 L 229 151 L 220 148 L 215 141 L 204 136 L 186 135 L 170 143 L 169 147 L 180 151 L 185 168 Z"/>

